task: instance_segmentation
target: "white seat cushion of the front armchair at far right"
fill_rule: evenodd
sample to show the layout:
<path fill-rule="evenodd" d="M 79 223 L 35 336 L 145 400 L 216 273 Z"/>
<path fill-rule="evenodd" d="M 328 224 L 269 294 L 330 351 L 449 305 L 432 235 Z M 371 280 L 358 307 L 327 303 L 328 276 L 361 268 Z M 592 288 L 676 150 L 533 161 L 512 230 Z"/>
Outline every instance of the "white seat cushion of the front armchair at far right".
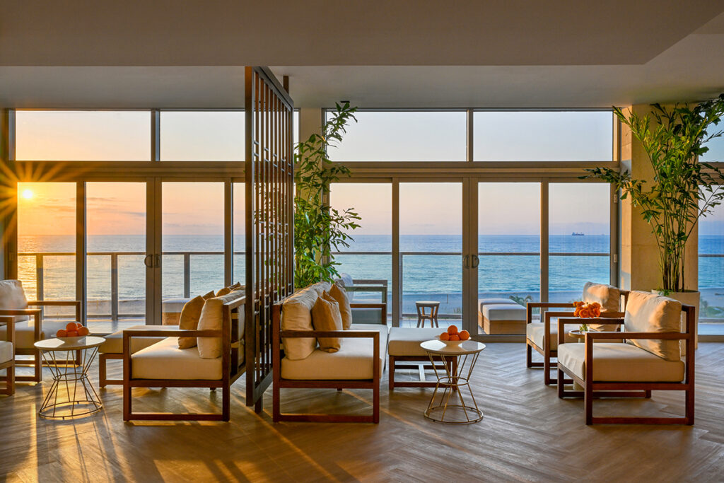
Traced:
<path fill-rule="evenodd" d="M 585 344 L 561 344 L 558 363 L 586 379 Z M 681 382 L 682 361 L 667 361 L 626 343 L 595 344 L 593 380 L 607 382 Z"/>

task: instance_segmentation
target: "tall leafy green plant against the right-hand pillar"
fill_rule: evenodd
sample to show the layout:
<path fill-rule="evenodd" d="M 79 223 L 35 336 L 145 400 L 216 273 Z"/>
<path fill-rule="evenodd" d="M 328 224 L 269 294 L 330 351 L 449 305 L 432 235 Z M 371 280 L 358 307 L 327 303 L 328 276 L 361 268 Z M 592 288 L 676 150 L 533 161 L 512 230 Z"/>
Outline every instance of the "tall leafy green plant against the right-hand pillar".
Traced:
<path fill-rule="evenodd" d="M 691 231 L 724 199 L 722 170 L 699 162 L 709 151 L 705 144 L 722 135 L 716 129 L 724 114 L 724 94 L 690 106 L 652 104 L 651 114 L 624 114 L 613 108 L 616 117 L 631 129 L 641 142 L 654 171 L 652 182 L 637 180 L 628 171 L 597 167 L 586 169 L 596 177 L 613 183 L 621 199 L 630 198 L 633 206 L 651 225 L 656 237 L 661 271 L 661 286 L 655 292 L 699 306 L 699 292 L 688 290 L 684 281 L 684 249 Z M 652 120 L 654 121 L 652 123 Z"/>

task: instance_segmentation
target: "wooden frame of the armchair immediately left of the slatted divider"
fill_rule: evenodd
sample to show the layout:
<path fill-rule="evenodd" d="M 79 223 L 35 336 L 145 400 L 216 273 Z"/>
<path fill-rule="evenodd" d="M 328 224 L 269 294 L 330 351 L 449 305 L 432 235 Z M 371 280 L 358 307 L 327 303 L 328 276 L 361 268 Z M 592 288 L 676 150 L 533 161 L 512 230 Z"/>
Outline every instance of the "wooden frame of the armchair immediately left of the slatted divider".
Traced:
<path fill-rule="evenodd" d="M 246 298 L 241 297 L 224 303 L 222 309 L 221 330 L 125 330 L 123 331 L 123 420 L 164 420 L 164 421 L 229 421 L 231 385 L 244 372 L 246 362 L 239 364 L 241 351 L 239 324 L 232 321 L 239 319 L 240 308 L 243 310 Z M 221 337 L 221 378 L 220 379 L 146 379 L 133 377 L 133 355 L 131 340 L 133 337 Z M 150 349 L 153 346 L 147 348 Z M 195 348 L 185 349 L 193 350 Z M 140 351 L 139 351 L 140 353 Z M 207 359 L 213 360 L 213 359 Z M 221 413 L 135 413 L 132 410 L 133 387 L 209 387 L 222 389 Z"/>

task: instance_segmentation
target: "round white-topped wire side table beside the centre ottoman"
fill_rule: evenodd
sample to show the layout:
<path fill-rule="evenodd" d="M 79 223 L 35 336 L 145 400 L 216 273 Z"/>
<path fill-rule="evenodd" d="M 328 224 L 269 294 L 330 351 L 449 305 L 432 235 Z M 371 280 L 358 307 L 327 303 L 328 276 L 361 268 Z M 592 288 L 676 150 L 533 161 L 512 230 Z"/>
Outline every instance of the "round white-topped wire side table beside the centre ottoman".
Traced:
<path fill-rule="evenodd" d="M 427 340 L 421 343 L 420 347 L 427 352 L 437 377 L 437 385 L 425 411 L 425 417 L 432 421 L 451 424 L 471 424 L 483 419 L 483 412 L 478 408 L 470 387 L 470 378 L 485 344 L 466 340 L 459 345 L 448 345 L 439 340 Z M 442 369 L 438 370 L 434 358 L 442 359 L 444 373 Z M 463 399 L 461 391 L 463 387 L 470 395 L 469 402 Z M 437 400 L 440 388 L 442 393 Z"/>

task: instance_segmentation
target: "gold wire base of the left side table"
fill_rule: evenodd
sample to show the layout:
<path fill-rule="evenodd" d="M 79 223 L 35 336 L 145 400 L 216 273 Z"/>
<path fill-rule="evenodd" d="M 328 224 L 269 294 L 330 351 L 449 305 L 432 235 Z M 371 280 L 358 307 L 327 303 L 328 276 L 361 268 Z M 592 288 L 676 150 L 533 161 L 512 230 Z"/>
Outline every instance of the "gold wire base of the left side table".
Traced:
<path fill-rule="evenodd" d="M 76 349 L 66 350 L 65 361 L 72 360 L 71 353 L 75 353 L 75 351 Z M 98 347 L 84 348 L 80 351 L 83 353 L 83 359 L 80 366 L 75 366 L 64 364 L 62 360 L 56 358 L 55 353 L 61 352 L 60 350 L 41 350 L 43 359 L 53 374 L 53 383 L 38 411 L 38 416 L 41 418 L 77 418 L 97 413 L 103 408 L 101 398 L 98 397 L 98 393 L 88 378 L 88 369 L 98 354 Z M 59 402 L 58 392 L 62 385 L 65 386 L 68 400 Z"/>

